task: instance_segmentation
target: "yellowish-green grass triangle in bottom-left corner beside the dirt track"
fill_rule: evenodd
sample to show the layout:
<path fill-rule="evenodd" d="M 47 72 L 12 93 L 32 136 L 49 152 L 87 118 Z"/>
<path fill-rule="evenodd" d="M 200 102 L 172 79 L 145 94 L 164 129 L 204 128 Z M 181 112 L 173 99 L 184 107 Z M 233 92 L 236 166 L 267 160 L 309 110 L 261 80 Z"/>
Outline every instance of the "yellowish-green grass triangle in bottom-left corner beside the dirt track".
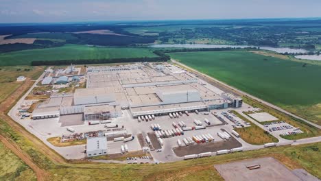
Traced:
<path fill-rule="evenodd" d="M 0 180 L 36 180 L 34 171 L 0 142 Z"/>

